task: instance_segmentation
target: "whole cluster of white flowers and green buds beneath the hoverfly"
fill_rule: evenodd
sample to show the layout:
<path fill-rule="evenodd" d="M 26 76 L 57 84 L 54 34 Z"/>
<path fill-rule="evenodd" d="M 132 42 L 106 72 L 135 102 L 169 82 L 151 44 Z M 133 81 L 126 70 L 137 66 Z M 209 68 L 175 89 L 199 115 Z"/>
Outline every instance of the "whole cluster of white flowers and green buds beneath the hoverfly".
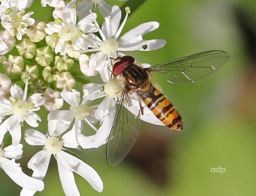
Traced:
<path fill-rule="evenodd" d="M 44 189 L 53 155 L 65 195 L 79 195 L 73 172 L 101 192 L 99 174 L 67 150 L 106 143 L 123 88 L 111 80 L 113 59 L 124 55 L 120 52 L 156 50 L 166 42 L 143 39 L 158 22 L 122 32 L 128 7 L 121 22 L 122 10 L 103 0 L 41 0 L 42 7 L 54 8 L 46 23 L 27 12 L 32 4 L 3 0 L 0 5 L 0 167 L 23 188 L 20 195 L 34 195 Z M 104 18 L 101 25 L 96 7 Z M 89 82 L 97 74 L 99 84 Z M 42 119 L 48 128 L 39 125 Z M 23 130 L 25 124 L 31 128 Z M 94 135 L 86 135 L 85 124 Z M 27 163 L 32 176 L 15 162 L 23 154 L 22 137 L 31 146 L 43 146 Z"/>

